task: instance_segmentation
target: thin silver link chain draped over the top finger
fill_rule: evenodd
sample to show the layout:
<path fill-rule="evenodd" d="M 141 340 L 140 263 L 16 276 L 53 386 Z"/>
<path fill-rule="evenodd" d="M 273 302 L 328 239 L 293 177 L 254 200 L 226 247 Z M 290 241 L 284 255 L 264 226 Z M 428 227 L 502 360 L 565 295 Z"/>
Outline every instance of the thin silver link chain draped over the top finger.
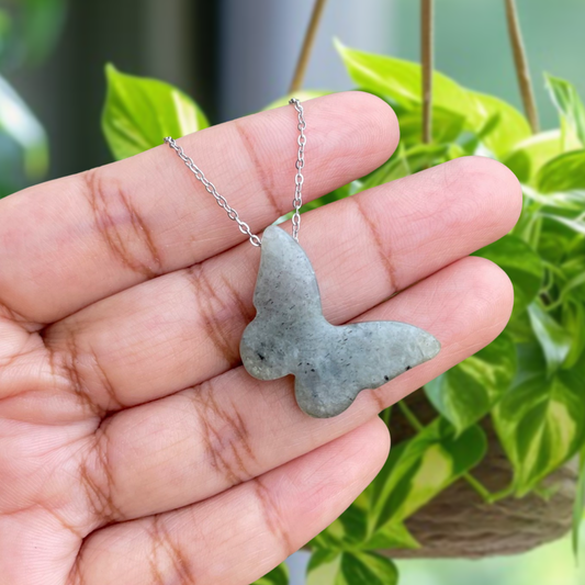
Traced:
<path fill-rule="evenodd" d="M 294 109 L 299 113 L 299 123 L 296 127 L 299 128 L 299 138 L 296 140 L 299 145 L 299 154 L 295 162 L 296 168 L 296 176 L 294 178 L 295 189 L 294 189 L 294 199 L 293 199 L 293 207 L 294 207 L 294 214 L 292 216 L 292 236 L 293 238 L 299 241 L 299 228 L 301 227 L 301 206 L 303 205 L 303 168 L 305 166 L 305 144 L 306 144 L 306 136 L 305 136 L 305 130 L 306 130 L 306 122 L 305 116 L 303 112 L 303 106 L 301 105 L 301 102 L 296 98 L 292 98 L 289 101 L 290 104 L 294 105 Z M 217 192 L 217 189 L 215 189 L 215 185 L 205 177 L 205 173 L 195 165 L 194 160 L 184 154 L 183 147 L 178 145 L 177 142 L 171 137 L 167 136 L 165 138 L 165 143 L 168 144 L 179 156 L 179 158 L 187 165 L 189 170 L 195 176 L 195 179 L 198 181 L 201 181 L 203 185 L 205 187 L 205 190 L 207 193 L 211 193 L 215 201 L 217 202 L 217 205 L 220 207 L 223 207 L 227 216 L 236 222 L 238 224 L 239 230 L 243 234 L 246 234 L 248 238 L 250 239 L 250 244 L 252 246 L 261 246 L 262 240 L 259 236 L 251 233 L 250 226 L 239 218 L 238 212 L 234 210 L 234 207 L 230 207 L 227 203 L 227 200 L 221 195 Z"/>

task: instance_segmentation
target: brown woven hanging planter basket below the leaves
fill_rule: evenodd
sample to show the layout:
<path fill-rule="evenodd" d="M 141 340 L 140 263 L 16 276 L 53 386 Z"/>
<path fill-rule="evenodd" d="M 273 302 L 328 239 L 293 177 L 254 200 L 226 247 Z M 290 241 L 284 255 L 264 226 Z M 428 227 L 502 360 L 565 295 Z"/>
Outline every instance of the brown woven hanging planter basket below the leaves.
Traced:
<path fill-rule="evenodd" d="M 409 396 L 407 403 L 421 419 L 434 416 L 423 392 Z M 481 426 L 487 437 L 487 453 L 473 476 L 498 493 L 510 484 L 513 469 L 490 419 Z M 393 443 L 398 445 L 412 436 L 412 428 L 404 417 L 396 416 L 391 432 Z M 472 559 L 527 552 L 571 530 L 577 481 L 578 465 L 573 460 L 542 482 L 541 495 L 507 496 L 490 504 L 460 479 L 406 520 L 420 549 L 381 552 L 394 559 Z"/>

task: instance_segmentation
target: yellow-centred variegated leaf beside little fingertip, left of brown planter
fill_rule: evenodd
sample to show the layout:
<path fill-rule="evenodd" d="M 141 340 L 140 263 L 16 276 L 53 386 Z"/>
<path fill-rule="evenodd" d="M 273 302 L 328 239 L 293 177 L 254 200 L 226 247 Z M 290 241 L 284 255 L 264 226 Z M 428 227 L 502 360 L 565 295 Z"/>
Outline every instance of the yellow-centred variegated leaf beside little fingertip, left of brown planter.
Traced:
<path fill-rule="evenodd" d="M 480 427 L 455 436 L 454 428 L 443 418 L 393 448 L 368 488 L 372 503 L 370 532 L 412 516 L 476 465 L 485 449 L 485 435 Z"/>

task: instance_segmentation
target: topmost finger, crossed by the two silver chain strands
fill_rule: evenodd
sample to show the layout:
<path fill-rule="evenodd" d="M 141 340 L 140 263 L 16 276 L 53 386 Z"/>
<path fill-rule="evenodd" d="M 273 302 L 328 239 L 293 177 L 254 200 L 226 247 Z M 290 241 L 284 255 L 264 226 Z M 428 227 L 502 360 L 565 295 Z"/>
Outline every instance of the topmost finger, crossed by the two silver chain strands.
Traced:
<path fill-rule="evenodd" d="M 304 105 L 306 201 L 375 169 L 396 146 L 395 115 L 371 94 L 345 92 Z M 178 142 L 257 232 L 292 206 L 296 138 L 296 112 L 284 106 Z M 244 239 L 161 145 L 0 201 L 0 303 L 52 323 Z"/>

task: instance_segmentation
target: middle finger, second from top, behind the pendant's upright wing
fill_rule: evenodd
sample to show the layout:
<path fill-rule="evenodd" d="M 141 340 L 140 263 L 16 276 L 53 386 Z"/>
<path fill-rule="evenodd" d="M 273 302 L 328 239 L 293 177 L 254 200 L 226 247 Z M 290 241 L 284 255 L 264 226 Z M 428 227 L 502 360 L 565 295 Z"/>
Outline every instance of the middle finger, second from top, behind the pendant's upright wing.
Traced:
<path fill-rule="evenodd" d="M 511 172 L 487 158 L 464 158 L 306 214 L 302 245 L 325 316 L 345 323 L 502 237 L 520 205 Z M 259 256 L 243 244 L 55 324 L 45 331 L 55 369 L 70 371 L 75 356 L 76 394 L 111 410 L 237 365 L 255 314 Z"/>

